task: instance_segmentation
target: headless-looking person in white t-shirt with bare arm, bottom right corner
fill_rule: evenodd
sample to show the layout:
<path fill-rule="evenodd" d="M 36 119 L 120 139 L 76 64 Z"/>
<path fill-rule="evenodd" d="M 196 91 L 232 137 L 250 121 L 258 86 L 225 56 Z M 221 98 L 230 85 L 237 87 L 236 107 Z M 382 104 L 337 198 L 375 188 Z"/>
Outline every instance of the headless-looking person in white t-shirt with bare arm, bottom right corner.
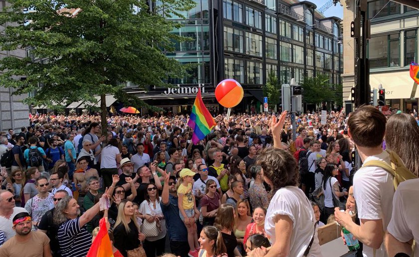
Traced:
<path fill-rule="evenodd" d="M 385 245 L 388 256 L 405 253 L 412 256 L 412 240 L 416 241 L 415 256 L 419 256 L 419 179 L 400 183 L 394 194 L 393 213 L 387 227 Z"/>

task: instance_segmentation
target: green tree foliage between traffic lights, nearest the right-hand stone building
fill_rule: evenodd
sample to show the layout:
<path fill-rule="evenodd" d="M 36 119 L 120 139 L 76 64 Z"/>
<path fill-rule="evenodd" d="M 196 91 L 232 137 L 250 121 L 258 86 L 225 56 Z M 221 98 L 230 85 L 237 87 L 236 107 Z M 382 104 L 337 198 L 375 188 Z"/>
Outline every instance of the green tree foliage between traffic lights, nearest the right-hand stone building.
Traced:
<path fill-rule="evenodd" d="M 342 85 L 329 83 L 329 77 L 318 75 L 316 77 L 304 77 L 303 102 L 320 105 L 322 102 L 337 102 L 342 104 Z M 339 94 L 339 95 L 338 95 Z"/>

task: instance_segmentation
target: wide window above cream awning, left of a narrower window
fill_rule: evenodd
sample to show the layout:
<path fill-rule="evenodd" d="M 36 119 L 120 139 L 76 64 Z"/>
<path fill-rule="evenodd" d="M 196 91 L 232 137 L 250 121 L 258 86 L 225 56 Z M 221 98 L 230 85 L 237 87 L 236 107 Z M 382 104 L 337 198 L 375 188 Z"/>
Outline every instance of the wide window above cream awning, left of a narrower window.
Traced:
<path fill-rule="evenodd" d="M 368 55 L 371 68 L 400 66 L 399 33 L 371 37 Z"/>

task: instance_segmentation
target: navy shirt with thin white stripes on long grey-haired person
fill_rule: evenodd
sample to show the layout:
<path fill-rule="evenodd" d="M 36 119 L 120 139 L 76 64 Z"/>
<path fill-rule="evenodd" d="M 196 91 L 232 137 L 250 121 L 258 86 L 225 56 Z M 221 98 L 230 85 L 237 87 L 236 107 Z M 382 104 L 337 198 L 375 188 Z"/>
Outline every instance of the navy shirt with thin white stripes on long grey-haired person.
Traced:
<path fill-rule="evenodd" d="M 58 229 L 62 257 L 85 257 L 92 245 L 92 236 L 86 226 L 80 228 L 80 217 L 68 220 Z"/>

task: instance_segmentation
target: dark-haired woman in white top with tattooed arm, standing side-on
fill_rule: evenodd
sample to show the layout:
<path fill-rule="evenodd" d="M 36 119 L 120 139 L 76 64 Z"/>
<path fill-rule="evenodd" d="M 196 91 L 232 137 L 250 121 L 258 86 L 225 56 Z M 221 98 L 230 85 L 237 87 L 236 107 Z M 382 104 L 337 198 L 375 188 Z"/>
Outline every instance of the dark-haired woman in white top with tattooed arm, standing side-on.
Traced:
<path fill-rule="evenodd" d="M 324 192 L 324 219 L 327 220 L 330 215 L 335 213 L 333 197 L 339 200 L 339 197 L 347 196 L 348 192 L 340 190 L 339 181 L 335 178 L 339 174 L 339 168 L 335 163 L 328 163 L 324 168 L 324 177 L 322 182 Z M 333 190 L 332 190 L 333 189 Z M 332 195 L 333 194 L 333 195 Z"/>

